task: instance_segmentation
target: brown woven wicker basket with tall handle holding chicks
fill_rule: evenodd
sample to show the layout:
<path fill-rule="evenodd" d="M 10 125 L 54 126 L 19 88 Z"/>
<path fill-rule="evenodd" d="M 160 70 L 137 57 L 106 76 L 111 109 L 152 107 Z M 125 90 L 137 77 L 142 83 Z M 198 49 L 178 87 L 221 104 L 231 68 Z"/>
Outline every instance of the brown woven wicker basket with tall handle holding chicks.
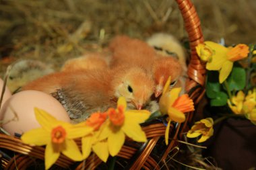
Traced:
<path fill-rule="evenodd" d="M 191 99 L 197 104 L 204 93 L 205 82 L 205 65 L 200 62 L 196 52 L 195 46 L 203 42 L 203 35 L 199 17 L 195 11 L 195 7 L 191 0 L 176 0 L 179 9 L 183 15 L 185 22 L 185 29 L 189 35 L 189 42 L 191 48 L 191 60 L 189 63 L 188 75 L 189 81 L 187 82 L 186 91 L 189 93 Z M 183 124 L 171 124 L 170 137 L 173 139 L 179 138 L 179 134 L 186 131 L 189 122 L 193 118 L 193 113 L 187 113 L 187 119 Z M 143 130 L 146 132 L 148 142 L 144 144 L 134 144 L 135 142 L 127 139 L 123 148 L 118 154 L 118 158 L 124 159 L 126 162 L 125 169 L 160 169 L 159 164 L 166 159 L 168 153 L 175 146 L 175 141 L 171 140 L 168 146 L 164 144 L 164 132 L 166 126 L 162 122 L 153 121 L 150 124 L 143 124 Z M 79 141 L 77 141 L 79 145 Z M 159 148 L 160 146 L 160 148 Z M 156 147 L 158 147 L 156 149 Z M 19 138 L 0 134 L 0 151 L 14 152 L 15 156 L 12 158 L 2 155 L 1 167 L 4 169 L 27 169 L 35 163 L 40 163 L 44 160 L 44 147 L 30 146 L 24 144 Z M 154 151 L 158 150 L 157 155 Z M 159 153 L 159 150 L 162 153 Z M 41 161 L 42 162 L 42 161 Z M 75 163 L 61 155 L 55 166 L 64 169 L 96 169 L 100 165 L 101 160 L 96 155 L 91 154 L 84 162 Z M 0 167 L 0 169 L 1 169 Z M 54 167 L 53 167 L 54 168 Z"/>

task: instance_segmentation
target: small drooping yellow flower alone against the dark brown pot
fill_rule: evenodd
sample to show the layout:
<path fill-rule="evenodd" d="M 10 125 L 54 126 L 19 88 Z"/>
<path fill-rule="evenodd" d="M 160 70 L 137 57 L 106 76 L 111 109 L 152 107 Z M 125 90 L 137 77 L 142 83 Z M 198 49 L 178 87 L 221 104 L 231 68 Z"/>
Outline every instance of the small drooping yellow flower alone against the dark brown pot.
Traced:
<path fill-rule="evenodd" d="M 199 122 L 195 122 L 195 125 L 193 125 L 191 130 L 187 132 L 187 137 L 196 138 L 202 134 L 201 138 L 199 138 L 197 142 L 204 142 L 214 134 L 213 125 L 214 120 L 212 120 L 212 118 L 205 118 Z"/>

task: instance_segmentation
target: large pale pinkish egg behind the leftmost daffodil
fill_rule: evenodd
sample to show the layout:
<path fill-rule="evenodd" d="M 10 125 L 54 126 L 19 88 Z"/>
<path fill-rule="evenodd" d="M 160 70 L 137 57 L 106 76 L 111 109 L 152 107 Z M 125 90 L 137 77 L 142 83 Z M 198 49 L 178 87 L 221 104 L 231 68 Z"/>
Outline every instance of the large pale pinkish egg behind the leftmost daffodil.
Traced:
<path fill-rule="evenodd" d="M 57 120 L 70 122 L 67 112 L 57 99 L 41 91 L 28 90 L 11 96 L 1 108 L 3 128 L 14 136 L 15 133 L 22 134 L 41 127 L 36 120 L 34 108 L 48 112 Z"/>

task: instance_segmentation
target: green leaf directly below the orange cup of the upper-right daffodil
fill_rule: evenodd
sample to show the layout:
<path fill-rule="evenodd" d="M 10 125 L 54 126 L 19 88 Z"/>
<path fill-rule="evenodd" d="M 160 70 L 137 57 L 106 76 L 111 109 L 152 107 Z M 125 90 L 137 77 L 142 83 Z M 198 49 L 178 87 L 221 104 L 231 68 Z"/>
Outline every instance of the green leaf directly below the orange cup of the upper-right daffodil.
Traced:
<path fill-rule="evenodd" d="M 230 91 L 241 90 L 245 88 L 246 83 L 246 72 L 241 67 L 233 67 L 230 76 L 227 79 L 228 87 Z"/>

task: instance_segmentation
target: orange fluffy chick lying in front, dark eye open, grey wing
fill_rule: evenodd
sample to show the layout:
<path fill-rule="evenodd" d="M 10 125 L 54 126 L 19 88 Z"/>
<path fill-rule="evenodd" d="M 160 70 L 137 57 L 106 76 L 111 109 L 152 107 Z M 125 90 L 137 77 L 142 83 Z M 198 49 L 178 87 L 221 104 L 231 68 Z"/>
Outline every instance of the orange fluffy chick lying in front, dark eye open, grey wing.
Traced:
<path fill-rule="evenodd" d="M 143 69 L 118 67 L 53 73 L 23 88 L 28 89 L 54 95 L 71 118 L 82 121 L 92 112 L 116 107 L 120 96 L 125 97 L 128 108 L 141 109 L 154 93 L 154 81 Z"/>

